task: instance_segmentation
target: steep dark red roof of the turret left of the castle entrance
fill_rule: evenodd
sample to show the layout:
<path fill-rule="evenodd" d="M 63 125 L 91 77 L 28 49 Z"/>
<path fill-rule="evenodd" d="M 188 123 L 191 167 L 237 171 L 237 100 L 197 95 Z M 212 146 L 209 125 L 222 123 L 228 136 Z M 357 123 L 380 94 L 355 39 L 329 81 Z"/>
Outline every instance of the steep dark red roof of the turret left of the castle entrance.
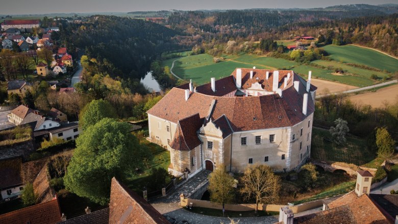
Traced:
<path fill-rule="evenodd" d="M 199 114 L 194 114 L 177 123 L 176 133 L 170 142 L 170 147 L 175 150 L 188 151 L 201 145 L 196 131 L 202 127 L 204 119 Z"/>

